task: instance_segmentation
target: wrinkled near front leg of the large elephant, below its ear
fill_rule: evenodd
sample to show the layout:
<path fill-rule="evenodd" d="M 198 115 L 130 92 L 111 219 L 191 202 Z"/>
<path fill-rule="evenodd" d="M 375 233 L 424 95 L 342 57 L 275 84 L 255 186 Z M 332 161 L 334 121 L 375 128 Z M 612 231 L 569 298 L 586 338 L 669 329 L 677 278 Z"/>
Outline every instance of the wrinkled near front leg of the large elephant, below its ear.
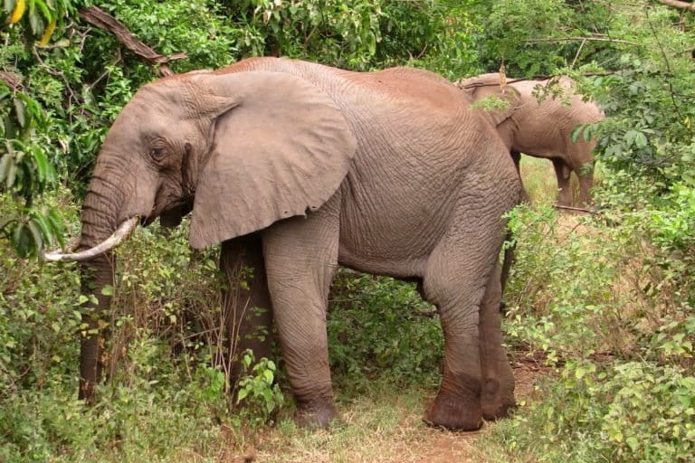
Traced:
<path fill-rule="evenodd" d="M 328 368 L 328 289 L 338 268 L 338 214 L 276 223 L 263 234 L 275 321 L 300 426 L 328 427 L 336 418 Z"/>

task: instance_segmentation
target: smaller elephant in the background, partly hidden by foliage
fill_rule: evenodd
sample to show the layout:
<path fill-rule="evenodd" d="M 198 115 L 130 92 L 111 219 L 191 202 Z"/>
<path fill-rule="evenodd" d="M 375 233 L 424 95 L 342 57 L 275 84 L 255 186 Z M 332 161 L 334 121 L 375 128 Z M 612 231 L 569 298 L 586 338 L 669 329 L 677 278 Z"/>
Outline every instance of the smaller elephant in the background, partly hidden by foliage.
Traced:
<path fill-rule="evenodd" d="M 564 77 L 559 80 L 561 89 L 569 97 L 569 105 L 561 99 L 547 98 L 540 102 L 534 96 L 538 85 L 547 86 L 550 80 L 509 79 L 504 87 L 500 74 L 490 73 L 460 80 L 457 85 L 480 100 L 496 96 L 509 100 L 507 109 L 490 111 L 489 116 L 500 137 L 511 153 L 519 171 L 520 154 L 550 159 L 557 176 L 557 204 L 572 205 L 569 176 L 574 172 L 579 179 L 578 203 L 591 203 L 590 189 L 594 184 L 595 140 L 586 141 L 583 136 L 576 142 L 572 131 L 580 124 L 602 120 L 604 112 L 593 101 L 584 101 L 572 89 L 574 81 Z"/>

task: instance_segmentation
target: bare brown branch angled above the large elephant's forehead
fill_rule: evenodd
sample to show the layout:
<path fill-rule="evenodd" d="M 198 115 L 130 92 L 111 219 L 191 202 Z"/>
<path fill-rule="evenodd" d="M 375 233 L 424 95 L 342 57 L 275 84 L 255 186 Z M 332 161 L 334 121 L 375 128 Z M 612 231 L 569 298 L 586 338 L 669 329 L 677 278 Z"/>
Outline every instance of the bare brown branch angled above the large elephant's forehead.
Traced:
<path fill-rule="evenodd" d="M 174 74 L 174 71 L 172 71 L 167 64 L 169 61 L 182 60 L 188 57 L 185 52 L 174 53 L 171 56 L 164 56 L 155 52 L 152 50 L 152 48 L 148 47 L 148 45 L 139 40 L 135 35 L 130 33 L 128 28 L 120 23 L 119 20 L 101 10 L 97 6 L 88 6 L 87 8 L 84 8 L 80 11 L 80 17 L 84 21 L 99 27 L 100 29 L 113 33 L 120 43 L 124 44 L 126 48 L 137 54 L 143 60 L 152 64 L 158 64 L 159 75 L 162 77 Z"/>

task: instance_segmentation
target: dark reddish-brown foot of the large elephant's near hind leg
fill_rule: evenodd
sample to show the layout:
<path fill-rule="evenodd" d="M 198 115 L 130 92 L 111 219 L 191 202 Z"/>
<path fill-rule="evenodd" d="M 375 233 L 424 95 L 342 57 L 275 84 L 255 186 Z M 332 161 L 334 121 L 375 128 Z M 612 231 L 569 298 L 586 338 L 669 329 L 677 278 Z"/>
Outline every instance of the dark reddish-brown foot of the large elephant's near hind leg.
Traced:
<path fill-rule="evenodd" d="M 451 392 L 440 391 L 424 414 L 424 422 L 447 430 L 480 430 L 480 401 L 465 400 Z"/>

